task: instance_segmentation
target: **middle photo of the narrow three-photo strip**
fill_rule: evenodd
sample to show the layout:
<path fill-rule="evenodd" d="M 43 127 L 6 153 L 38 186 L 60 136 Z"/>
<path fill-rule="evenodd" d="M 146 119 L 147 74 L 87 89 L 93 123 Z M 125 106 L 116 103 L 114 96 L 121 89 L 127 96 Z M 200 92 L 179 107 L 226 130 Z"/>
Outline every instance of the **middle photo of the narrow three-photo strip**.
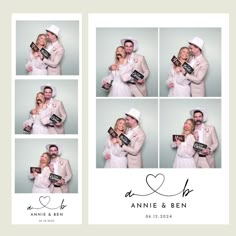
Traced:
<path fill-rule="evenodd" d="M 78 134 L 78 80 L 15 80 L 15 134 Z"/>

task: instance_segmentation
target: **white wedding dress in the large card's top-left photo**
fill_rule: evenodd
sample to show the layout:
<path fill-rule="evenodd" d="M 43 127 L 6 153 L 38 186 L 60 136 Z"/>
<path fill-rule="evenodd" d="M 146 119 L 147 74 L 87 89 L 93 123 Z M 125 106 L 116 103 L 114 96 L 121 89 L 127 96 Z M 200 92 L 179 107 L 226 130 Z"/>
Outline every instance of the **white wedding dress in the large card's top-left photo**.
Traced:
<path fill-rule="evenodd" d="M 108 97 L 131 97 L 131 92 L 127 81 L 130 79 L 132 66 L 127 64 L 119 65 L 119 70 L 111 71 L 103 81 L 108 81 L 112 86 L 109 90 Z"/>

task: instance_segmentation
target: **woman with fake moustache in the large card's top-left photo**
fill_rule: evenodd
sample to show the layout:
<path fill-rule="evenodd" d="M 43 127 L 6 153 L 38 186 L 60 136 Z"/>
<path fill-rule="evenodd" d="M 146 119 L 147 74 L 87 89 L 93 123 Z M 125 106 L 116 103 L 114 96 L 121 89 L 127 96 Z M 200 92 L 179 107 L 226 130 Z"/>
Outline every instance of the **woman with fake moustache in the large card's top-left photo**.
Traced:
<path fill-rule="evenodd" d="M 103 85 L 111 84 L 108 97 L 131 97 L 131 92 L 127 81 L 130 80 L 132 65 L 125 58 L 123 46 L 116 48 L 116 63 L 110 66 L 110 73 L 103 78 Z"/>

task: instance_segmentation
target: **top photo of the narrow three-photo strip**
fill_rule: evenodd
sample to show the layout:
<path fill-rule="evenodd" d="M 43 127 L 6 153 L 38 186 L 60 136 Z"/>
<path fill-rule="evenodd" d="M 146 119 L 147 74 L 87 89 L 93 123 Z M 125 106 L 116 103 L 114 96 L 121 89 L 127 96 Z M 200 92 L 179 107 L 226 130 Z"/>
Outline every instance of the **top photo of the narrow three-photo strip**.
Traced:
<path fill-rule="evenodd" d="M 79 14 L 15 14 L 15 75 L 80 75 Z"/>

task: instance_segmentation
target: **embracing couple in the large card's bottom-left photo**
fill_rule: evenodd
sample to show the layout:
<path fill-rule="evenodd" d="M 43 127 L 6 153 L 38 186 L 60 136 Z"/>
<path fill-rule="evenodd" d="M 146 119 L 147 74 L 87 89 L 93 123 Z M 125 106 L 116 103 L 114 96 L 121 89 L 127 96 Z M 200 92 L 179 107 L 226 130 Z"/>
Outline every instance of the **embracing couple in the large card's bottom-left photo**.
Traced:
<path fill-rule="evenodd" d="M 140 111 L 131 108 L 125 113 L 126 118 L 119 118 L 114 130 L 118 137 L 109 136 L 103 151 L 106 160 L 105 168 L 142 168 L 142 147 L 145 141 L 145 133 L 139 126 Z M 125 145 L 119 138 L 124 134 L 130 143 Z"/>

